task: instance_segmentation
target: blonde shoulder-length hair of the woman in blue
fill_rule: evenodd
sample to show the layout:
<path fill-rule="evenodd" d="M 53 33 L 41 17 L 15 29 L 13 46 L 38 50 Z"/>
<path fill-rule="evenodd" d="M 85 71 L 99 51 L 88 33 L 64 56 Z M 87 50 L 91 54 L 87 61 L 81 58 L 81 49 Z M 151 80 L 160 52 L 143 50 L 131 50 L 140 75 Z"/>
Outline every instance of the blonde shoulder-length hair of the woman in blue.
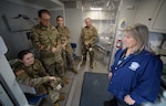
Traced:
<path fill-rule="evenodd" d="M 144 24 L 136 23 L 129 26 L 126 26 L 124 30 L 126 33 L 129 33 L 136 41 L 137 47 L 136 53 L 142 52 L 144 49 L 151 51 L 148 47 L 148 28 Z"/>

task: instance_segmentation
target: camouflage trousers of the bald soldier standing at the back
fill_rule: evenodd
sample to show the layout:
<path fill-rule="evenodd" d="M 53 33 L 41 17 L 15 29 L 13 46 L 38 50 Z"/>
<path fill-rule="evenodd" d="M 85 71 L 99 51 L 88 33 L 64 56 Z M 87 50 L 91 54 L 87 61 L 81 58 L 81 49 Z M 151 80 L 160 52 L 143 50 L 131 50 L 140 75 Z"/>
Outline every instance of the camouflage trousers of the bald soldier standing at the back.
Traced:
<path fill-rule="evenodd" d="M 93 61 L 94 61 L 94 46 L 91 46 L 91 47 L 87 47 L 85 45 L 82 46 L 83 61 L 86 61 L 87 52 L 90 54 L 90 63 L 93 63 Z"/>

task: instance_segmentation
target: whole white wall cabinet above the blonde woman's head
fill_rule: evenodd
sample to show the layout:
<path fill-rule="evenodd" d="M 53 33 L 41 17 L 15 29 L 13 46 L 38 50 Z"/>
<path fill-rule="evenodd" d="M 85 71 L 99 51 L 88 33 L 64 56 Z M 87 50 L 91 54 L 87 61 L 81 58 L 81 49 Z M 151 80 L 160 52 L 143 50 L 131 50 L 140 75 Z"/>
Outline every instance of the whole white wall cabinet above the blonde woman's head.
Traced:
<path fill-rule="evenodd" d="M 165 0 L 139 0 L 134 23 L 143 23 L 152 32 L 166 33 L 165 10 Z"/>

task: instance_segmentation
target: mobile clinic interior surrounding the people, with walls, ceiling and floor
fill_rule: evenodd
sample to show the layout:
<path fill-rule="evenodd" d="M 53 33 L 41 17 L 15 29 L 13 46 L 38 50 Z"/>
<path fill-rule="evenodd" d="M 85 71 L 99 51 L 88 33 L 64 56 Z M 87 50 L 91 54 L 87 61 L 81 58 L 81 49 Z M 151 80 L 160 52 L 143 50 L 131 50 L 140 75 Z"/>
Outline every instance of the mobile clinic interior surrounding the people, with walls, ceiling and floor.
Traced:
<path fill-rule="evenodd" d="M 23 91 L 34 92 L 34 89 L 20 87 L 11 65 L 15 62 L 19 51 L 34 50 L 29 34 L 32 26 L 39 23 L 38 11 L 40 9 L 50 11 L 51 24 L 54 26 L 56 25 L 56 17 L 62 15 L 64 24 L 71 33 L 71 43 L 76 44 L 73 51 L 76 55 L 74 65 L 79 74 L 66 73 L 70 84 L 62 88 L 61 93 L 65 95 L 65 99 L 60 102 L 60 106 L 83 106 L 83 102 L 86 102 L 82 100 L 85 96 L 83 91 L 84 86 L 87 86 L 85 85 L 85 73 L 108 73 L 114 62 L 115 52 L 123 46 L 123 30 L 133 23 L 143 23 L 148 28 L 148 44 L 156 54 L 160 55 L 163 61 L 162 86 L 157 98 L 157 102 L 160 103 L 156 103 L 154 106 L 165 106 L 165 0 L 0 0 L 0 106 L 34 106 L 29 103 Z M 86 18 L 91 18 L 92 24 L 98 33 L 93 70 L 89 65 L 80 66 L 82 61 L 81 30 L 85 26 L 84 20 Z M 93 84 L 97 84 L 98 81 L 93 80 Z M 103 91 L 107 93 L 107 85 L 103 86 L 105 89 L 98 91 L 98 94 Z M 38 100 L 35 105 L 53 106 L 50 102 L 43 100 Z M 96 103 L 94 100 L 87 103 L 91 105 L 85 106 L 103 106 L 101 104 L 94 105 L 93 103 Z"/>

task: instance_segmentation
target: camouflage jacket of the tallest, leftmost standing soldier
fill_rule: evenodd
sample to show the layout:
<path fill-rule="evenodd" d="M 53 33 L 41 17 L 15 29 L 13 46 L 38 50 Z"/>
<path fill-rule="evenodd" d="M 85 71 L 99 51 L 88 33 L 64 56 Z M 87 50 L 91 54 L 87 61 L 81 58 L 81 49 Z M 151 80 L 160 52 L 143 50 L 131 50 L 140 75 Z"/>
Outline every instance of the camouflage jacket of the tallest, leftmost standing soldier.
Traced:
<path fill-rule="evenodd" d="M 42 24 L 38 24 L 32 28 L 31 32 L 32 44 L 41 53 L 42 57 L 53 57 L 52 47 L 61 51 L 60 34 L 55 26 L 45 28 Z"/>

